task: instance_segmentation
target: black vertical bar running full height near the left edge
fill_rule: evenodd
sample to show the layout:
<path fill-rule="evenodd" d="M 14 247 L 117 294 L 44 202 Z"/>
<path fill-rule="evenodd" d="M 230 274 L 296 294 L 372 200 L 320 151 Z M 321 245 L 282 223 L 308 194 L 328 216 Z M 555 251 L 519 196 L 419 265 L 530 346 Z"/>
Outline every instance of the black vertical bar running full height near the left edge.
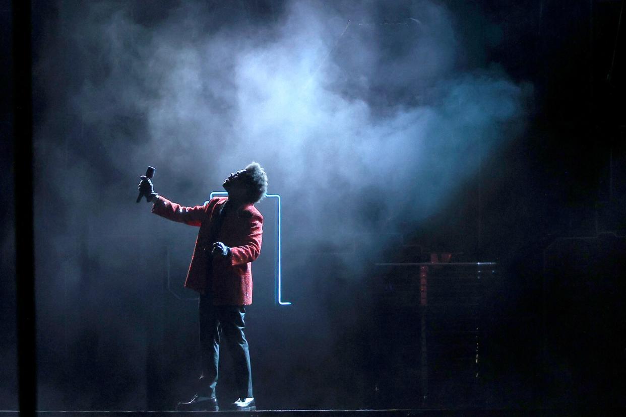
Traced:
<path fill-rule="evenodd" d="M 20 414 L 29 416 L 34 415 L 34 411 L 37 409 L 33 247 L 31 1 L 13 1 L 12 12 L 18 395 Z"/>

